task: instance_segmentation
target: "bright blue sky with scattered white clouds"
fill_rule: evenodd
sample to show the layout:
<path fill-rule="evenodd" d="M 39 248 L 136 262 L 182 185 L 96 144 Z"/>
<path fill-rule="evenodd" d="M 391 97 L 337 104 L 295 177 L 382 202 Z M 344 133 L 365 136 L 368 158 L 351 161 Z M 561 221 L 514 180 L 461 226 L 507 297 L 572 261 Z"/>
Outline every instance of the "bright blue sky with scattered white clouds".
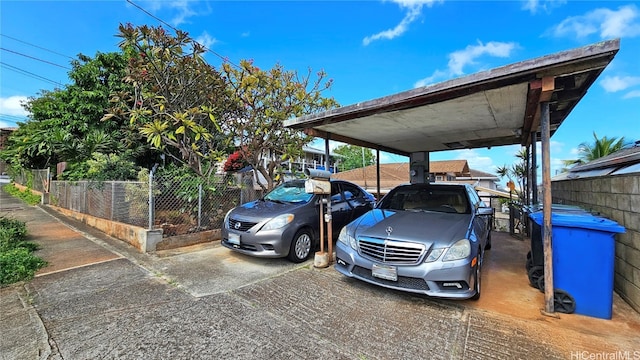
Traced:
<path fill-rule="evenodd" d="M 134 6 L 133 4 L 137 5 Z M 473 74 L 601 40 L 620 51 L 552 137 L 552 171 L 599 137 L 640 140 L 640 4 L 630 1 L 6 1 L 0 2 L 0 127 L 42 89 L 69 83 L 78 53 L 118 51 L 120 23 L 187 31 L 223 58 L 280 63 L 333 79 L 341 105 Z M 153 14 L 146 14 L 140 8 Z M 322 143 L 320 143 L 322 147 Z M 432 153 L 494 172 L 517 146 Z M 382 154 L 382 162 L 407 158 Z"/>

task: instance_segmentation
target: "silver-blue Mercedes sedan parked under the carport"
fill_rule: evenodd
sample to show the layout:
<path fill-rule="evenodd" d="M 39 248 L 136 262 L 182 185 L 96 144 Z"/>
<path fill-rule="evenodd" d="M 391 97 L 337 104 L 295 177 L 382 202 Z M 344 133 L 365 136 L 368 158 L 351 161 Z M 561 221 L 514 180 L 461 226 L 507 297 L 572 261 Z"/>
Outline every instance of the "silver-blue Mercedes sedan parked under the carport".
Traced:
<path fill-rule="evenodd" d="M 478 299 L 492 216 L 470 185 L 401 185 L 342 229 L 335 269 L 391 289 Z"/>

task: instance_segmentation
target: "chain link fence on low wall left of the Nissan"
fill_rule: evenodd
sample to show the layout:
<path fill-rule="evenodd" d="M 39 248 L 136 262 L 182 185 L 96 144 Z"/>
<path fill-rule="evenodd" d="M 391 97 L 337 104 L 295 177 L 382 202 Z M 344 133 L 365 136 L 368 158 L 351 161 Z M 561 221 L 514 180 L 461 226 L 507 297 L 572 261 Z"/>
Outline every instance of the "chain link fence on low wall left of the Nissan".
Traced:
<path fill-rule="evenodd" d="M 219 229 L 230 209 L 260 194 L 244 189 L 252 185 L 242 179 L 149 175 L 149 181 L 52 181 L 49 202 L 176 236 Z"/>

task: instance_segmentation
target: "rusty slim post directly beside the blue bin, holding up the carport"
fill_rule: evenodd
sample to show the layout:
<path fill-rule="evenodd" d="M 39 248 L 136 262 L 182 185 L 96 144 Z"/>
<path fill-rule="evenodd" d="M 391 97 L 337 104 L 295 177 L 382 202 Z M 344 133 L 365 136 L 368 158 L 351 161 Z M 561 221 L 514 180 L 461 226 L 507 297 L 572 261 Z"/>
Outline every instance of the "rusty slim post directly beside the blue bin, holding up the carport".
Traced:
<path fill-rule="evenodd" d="M 549 102 L 540 103 L 542 122 L 542 242 L 544 247 L 544 300 L 545 311 L 554 312 L 553 305 L 553 248 L 551 247 L 551 126 Z M 534 144 L 535 146 L 535 144 Z"/>

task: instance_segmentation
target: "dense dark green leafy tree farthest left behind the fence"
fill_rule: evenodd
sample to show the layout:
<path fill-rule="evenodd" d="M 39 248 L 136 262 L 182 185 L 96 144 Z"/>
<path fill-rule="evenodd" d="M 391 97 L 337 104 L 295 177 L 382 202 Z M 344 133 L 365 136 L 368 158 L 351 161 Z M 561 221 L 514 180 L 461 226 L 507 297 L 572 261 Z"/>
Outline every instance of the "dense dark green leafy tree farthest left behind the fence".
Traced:
<path fill-rule="evenodd" d="M 2 158 L 24 168 L 51 167 L 60 161 L 82 163 L 96 152 L 144 158 L 145 147 L 130 138 L 137 134 L 127 122 L 100 121 L 110 93 L 127 86 L 122 81 L 126 64 L 119 53 L 97 53 L 95 58 L 78 55 L 71 62 L 71 84 L 42 91 L 24 105 L 29 119 L 10 136 Z"/>

